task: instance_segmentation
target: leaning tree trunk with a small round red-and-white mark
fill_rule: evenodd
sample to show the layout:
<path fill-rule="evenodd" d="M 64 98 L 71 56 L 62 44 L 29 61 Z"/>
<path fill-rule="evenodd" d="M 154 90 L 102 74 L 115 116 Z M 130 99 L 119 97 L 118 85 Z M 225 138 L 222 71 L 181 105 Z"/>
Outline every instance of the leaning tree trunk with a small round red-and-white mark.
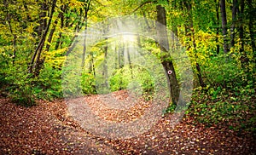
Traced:
<path fill-rule="evenodd" d="M 158 43 L 160 44 L 161 53 L 164 54 L 161 58 L 162 65 L 166 69 L 166 75 L 169 81 L 170 92 L 172 95 L 172 104 L 177 105 L 179 99 L 179 85 L 177 83 L 176 72 L 169 54 L 168 34 L 166 30 L 166 9 L 160 5 L 156 6 L 157 22 L 156 31 L 158 36 Z M 172 74 L 168 74 L 168 71 L 172 71 Z"/>

